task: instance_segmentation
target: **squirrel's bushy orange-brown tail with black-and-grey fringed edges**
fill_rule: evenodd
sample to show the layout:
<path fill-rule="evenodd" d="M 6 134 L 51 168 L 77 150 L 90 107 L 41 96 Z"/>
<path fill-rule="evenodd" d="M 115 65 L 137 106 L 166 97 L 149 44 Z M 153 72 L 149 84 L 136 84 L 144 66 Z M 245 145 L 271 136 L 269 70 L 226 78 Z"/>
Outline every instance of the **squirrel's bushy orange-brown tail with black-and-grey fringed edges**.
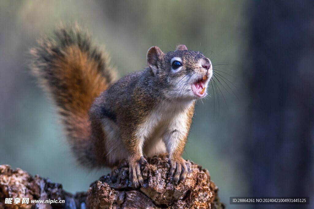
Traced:
<path fill-rule="evenodd" d="M 32 73 L 49 93 L 62 116 L 67 138 L 78 161 L 97 166 L 90 143 L 91 122 L 88 112 L 114 79 L 107 56 L 91 47 L 89 36 L 78 28 L 61 28 L 54 38 L 39 41 L 31 49 Z"/>

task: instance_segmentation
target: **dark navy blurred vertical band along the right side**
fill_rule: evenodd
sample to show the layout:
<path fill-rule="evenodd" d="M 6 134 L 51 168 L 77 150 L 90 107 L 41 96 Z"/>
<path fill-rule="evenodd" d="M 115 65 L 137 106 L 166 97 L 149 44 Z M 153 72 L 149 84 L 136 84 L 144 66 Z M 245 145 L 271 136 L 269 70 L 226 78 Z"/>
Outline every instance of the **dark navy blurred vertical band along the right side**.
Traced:
<path fill-rule="evenodd" d="M 256 1 L 248 11 L 245 153 L 252 196 L 310 196 L 313 202 L 314 2 Z"/>

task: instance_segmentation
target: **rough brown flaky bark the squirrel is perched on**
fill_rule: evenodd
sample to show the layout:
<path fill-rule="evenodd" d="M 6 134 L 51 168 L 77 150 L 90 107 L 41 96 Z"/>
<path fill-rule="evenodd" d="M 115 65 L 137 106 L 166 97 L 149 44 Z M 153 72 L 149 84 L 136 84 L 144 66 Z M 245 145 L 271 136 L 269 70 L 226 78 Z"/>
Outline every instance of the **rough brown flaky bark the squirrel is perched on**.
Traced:
<path fill-rule="evenodd" d="M 144 183 L 139 188 L 128 179 L 128 166 L 121 165 L 114 174 L 102 176 L 88 192 L 70 194 L 62 185 L 27 172 L 0 165 L 0 208 L 224 208 L 218 188 L 208 170 L 192 163 L 187 178 L 176 184 L 168 176 L 166 155 L 148 158 L 143 165 Z M 5 198 L 21 198 L 18 204 L 5 204 Z M 22 198 L 30 198 L 22 204 Z M 65 200 L 65 203 L 33 203 L 31 200 Z"/>

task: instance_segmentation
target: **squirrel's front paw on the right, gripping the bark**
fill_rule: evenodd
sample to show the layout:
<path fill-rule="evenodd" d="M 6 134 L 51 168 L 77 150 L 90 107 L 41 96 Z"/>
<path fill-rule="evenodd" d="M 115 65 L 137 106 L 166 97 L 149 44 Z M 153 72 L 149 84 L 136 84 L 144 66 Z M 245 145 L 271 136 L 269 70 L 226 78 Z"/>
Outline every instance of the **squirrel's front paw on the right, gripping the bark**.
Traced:
<path fill-rule="evenodd" d="M 179 180 L 184 180 L 187 174 L 191 172 L 191 163 L 185 161 L 182 157 L 179 159 L 170 159 L 170 176 L 173 176 L 176 183 Z"/>

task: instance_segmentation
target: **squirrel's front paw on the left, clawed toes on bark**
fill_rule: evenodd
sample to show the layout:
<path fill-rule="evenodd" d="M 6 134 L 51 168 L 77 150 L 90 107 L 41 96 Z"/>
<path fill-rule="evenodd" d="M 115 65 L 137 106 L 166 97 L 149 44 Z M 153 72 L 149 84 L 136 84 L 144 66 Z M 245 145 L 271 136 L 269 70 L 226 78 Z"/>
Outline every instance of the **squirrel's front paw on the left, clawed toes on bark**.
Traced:
<path fill-rule="evenodd" d="M 140 159 L 129 158 L 129 179 L 133 182 L 135 187 L 139 184 L 143 185 L 143 177 L 141 172 L 141 165 L 148 164 L 147 160 L 142 156 Z"/>

